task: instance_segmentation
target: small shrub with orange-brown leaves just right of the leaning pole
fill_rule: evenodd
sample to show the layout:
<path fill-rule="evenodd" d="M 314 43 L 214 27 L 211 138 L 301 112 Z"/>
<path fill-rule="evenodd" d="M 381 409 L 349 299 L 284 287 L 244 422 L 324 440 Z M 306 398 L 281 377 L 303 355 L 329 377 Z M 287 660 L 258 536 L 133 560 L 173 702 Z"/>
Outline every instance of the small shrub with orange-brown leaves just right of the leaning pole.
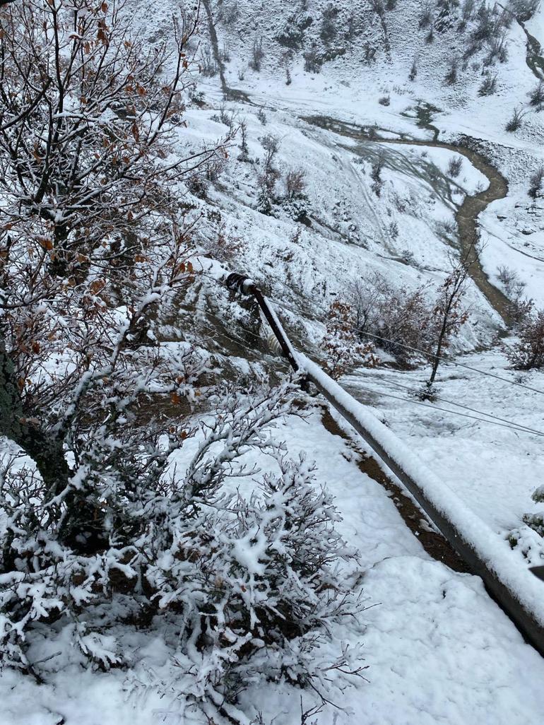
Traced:
<path fill-rule="evenodd" d="M 338 380 L 353 365 L 374 366 L 374 343 L 360 342 L 355 328 L 355 313 L 346 302 L 335 300 L 329 308 L 326 334 L 319 347 L 325 354 L 325 368 L 331 378 Z"/>

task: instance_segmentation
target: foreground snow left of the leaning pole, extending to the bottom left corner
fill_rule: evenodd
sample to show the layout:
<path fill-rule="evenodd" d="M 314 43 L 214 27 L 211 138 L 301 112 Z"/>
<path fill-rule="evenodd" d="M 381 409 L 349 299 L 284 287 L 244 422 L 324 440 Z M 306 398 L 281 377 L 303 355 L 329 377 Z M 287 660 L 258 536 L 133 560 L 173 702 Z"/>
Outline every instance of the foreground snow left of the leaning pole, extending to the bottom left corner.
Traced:
<path fill-rule="evenodd" d="M 361 473 L 358 452 L 323 428 L 321 413 L 289 418 L 274 432 L 289 442 L 289 455 L 305 452 L 316 460 L 320 481 L 334 493 L 342 514 L 339 531 L 360 552 L 350 573 L 366 610 L 358 621 L 331 632 L 323 645 L 336 655 L 342 643 L 362 645 L 366 681 L 355 679 L 343 692 L 331 692 L 339 708 L 329 706 L 316 722 L 327 725 L 493 725 L 537 723 L 544 708 L 544 662 L 523 642 L 506 615 L 487 596 L 477 577 L 452 571 L 432 560 L 408 531 L 382 486 Z M 311 441 L 311 445 L 309 442 Z M 265 469 L 270 465 L 259 460 Z M 15 674 L 0 680 L 2 725 L 200 725 L 205 718 L 183 713 L 174 697 L 138 697 L 133 680 L 144 669 L 165 682 L 171 671 L 160 632 L 125 640 L 131 671 L 91 673 L 51 639 L 51 655 L 73 664 L 54 671 L 38 686 Z M 324 654 L 325 652 L 322 652 Z M 248 689 L 241 706 L 248 720 L 291 725 L 300 719 L 300 695 L 306 709 L 316 704 L 310 692 L 270 685 Z M 255 720 L 255 722 L 258 722 Z"/>

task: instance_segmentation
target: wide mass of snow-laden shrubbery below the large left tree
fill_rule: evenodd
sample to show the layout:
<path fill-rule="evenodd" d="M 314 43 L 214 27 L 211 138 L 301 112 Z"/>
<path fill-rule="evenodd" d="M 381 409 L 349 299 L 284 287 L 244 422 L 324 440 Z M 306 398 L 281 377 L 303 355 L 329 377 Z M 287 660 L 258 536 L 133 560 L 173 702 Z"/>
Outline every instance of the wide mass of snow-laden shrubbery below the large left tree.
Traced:
<path fill-rule="evenodd" d="M 28 646 L 54 623 L 96 666 L 123 666 L 112 625 L 164 617 L 178 633 L 178 697 L 234 702 L 264 679 L 318 687 L 314 650 L 358 609 L 339 566 L 356 552 L 312 466 L 271 438 L 297 394 L 286 383 L 211 399 L 185 473 L 168 461 L 188 431 L 120 421 L 93 432 L 54 497 L 33 472 L 4 470 L 4 664 L 29 671 Z M 252 451 L 275 463 L 242 493 L 236 481 L 257 473 Z M 91 529 L 81 507 L 94 511 Z"/>

